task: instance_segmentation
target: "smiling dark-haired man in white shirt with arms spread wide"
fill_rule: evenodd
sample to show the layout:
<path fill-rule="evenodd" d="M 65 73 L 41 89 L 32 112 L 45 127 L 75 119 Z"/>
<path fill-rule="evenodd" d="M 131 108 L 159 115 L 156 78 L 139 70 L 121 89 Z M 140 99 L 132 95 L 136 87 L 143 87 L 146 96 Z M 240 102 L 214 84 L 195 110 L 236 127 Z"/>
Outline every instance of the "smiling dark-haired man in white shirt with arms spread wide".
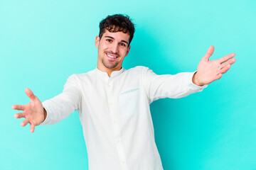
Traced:
<path fill-rule="evenodd" d="M 197 72 L 156 75 L 149 68 L 124 69 L 134 25 L 128 16 L 107 16 L 100 23 L 97 68 L 68 78 L 63 93 L 41 103 L 30 89 L 31 102 L 12 108 L 21 110 L 15 118 L 36 125 L 58 123 L 77 110 L 87 146 L 90 170 L 163 169 L 154 141 L 149 104 L 159 98 L 181 98 L 202 91 L 220 79 L 235 62 L 234 53 L 209 61 L 210 46 Z M 233 58 L 233 59 L 232 59 Z"/>

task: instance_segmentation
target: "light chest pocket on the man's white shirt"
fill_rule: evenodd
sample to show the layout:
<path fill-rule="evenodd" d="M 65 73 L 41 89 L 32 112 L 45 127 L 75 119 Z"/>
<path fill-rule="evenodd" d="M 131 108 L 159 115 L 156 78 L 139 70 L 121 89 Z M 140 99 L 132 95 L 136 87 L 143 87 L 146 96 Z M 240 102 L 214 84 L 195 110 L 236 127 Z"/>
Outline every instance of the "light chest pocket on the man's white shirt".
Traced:
<path fill-rule="evenodd" d="M 139 113 L 140 93 L 139 88 L 132 88 L 119 94 L 120 110 L 124 116 L 132 116 Z"/>

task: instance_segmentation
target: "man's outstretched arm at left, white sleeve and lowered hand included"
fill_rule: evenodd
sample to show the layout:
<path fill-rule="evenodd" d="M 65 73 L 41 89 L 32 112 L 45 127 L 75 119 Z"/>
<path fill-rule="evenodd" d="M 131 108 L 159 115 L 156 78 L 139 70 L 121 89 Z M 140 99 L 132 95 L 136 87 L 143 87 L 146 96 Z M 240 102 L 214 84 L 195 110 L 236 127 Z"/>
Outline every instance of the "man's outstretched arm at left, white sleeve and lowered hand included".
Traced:
<path fill-rule="evenodd" d="M 25 89 L 31 102 L 26 105 L 14 105 L 12 108 L 23 113 L 16 113 L 15 118 L 25 118 L 21 126 L 31 124 L 31 132 L 37 125 L 53 125 L 67 118 L 70 113 L 79 109 L 81 91 L 78 77 L 73 74 L 64 85 L 63 93 L 41 103 L 30 89 Z"/>

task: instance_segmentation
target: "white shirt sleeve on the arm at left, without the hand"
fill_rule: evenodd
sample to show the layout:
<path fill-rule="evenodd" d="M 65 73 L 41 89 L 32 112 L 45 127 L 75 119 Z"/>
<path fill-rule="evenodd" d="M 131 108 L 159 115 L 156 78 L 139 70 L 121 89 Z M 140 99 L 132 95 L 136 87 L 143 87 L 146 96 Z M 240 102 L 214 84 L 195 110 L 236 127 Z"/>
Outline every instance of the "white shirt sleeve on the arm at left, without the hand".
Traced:
<path fill-rule="evenodd" d="M 80 94 L 78 77 L 73 74 L 68 77 L 63 93 L 42 103 L 43 108 L 47 111 L 47 116 L 41 125 L 53 125 L 67 118 L 70 113 L 77 111 L 79 109 Z"/>

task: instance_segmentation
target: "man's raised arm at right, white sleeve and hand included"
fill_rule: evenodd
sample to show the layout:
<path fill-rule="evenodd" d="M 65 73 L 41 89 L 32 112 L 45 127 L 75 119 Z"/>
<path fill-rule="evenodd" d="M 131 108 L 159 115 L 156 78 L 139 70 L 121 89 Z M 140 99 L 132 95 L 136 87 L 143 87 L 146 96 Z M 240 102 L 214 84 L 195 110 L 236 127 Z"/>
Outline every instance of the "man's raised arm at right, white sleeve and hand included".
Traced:
<path fill-rule="evenodd" d="M 183 72 L 175 75 L 156 75 L 146 68 L 143 79 L 149 103 L 159 98 L 181 98 L 202 91 L 212 81 L 220 79 L 235 62 L 234 53 L 218 60 L 209 61 L 214 47 L 210 46 L 198 64 L 197 72 Z M 233 59 L 232 59 L 233 58 Z"/>

